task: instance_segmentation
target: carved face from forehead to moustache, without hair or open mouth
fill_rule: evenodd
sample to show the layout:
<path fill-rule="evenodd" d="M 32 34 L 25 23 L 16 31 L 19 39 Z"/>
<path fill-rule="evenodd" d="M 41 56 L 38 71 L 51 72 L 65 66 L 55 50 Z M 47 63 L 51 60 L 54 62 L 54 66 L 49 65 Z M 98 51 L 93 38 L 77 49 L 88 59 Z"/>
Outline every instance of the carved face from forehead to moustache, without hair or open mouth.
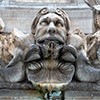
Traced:
<path fill-rule="evenodd" d="M 48 13 L 39 19 L 35 37 L 38 42 L 45 38 L 56 37 L 61 42 L 66 40 L 66 27 L 64 20 L 54 13 Z"/>

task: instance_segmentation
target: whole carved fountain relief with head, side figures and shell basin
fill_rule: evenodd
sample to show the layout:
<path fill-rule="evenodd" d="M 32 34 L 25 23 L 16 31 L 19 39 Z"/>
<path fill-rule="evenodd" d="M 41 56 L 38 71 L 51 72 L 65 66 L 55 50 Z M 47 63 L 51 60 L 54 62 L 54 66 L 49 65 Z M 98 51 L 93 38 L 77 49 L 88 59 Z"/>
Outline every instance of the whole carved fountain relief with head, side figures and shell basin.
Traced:
<path fill-rule="evenodd" d="M 1 32 L 1 82 L 31 82 L 39 90 L 64 91 L 68 86 L 73 87 L 72 81 L 83 84 L 100 80 L 100 69 L 94 63 L 95 56 L 99 60 L 99 48 L 94 44 L 99 42 L 95 38 L 93 44 L 91 40 L 97 36 L 85 35 L 79 29 L 69 33 L 70 21 L 65 11 L 43 8 L 31 28 L 31 34 L 17 29 L 9 34 Z M 29 87 L 24 86 L 32 88 L 29 83 Z"/>

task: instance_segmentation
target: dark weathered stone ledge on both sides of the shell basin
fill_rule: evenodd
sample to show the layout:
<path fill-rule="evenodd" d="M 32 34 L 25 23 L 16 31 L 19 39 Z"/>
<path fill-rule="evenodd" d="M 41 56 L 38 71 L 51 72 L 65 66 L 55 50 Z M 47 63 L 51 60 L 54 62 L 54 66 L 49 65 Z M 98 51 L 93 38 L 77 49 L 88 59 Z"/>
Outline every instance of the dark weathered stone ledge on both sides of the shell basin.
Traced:
<path fill-rule="evenodd" d="M 0 89 L 19 89 L 19 90 L 35 90 L 30 83 L 9 83 L 0 82 Z M 67 91 L 100 91 L 100 84 L 97 83 L 83 83 L 72 82 L 68 85 Z"/>

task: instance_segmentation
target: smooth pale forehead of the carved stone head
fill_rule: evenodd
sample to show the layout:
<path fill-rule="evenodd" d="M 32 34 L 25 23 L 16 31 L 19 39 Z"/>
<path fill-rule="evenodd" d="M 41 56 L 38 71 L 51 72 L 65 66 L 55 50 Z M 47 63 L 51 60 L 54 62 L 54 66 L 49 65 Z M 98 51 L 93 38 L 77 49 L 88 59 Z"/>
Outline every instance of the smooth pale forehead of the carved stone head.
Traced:
<path fill-rule="evenodd" d="M 48 13 L 46 15 L 43 15 L 43 16 L 40 17 L 40 20 L 45 19 L 45 18 L 49 18 L 51 20 L 59 19 L 61 21 L 64 21 L 62 17 L 60 17 L 59 15 L 57 15 L 55 13 Z"/>

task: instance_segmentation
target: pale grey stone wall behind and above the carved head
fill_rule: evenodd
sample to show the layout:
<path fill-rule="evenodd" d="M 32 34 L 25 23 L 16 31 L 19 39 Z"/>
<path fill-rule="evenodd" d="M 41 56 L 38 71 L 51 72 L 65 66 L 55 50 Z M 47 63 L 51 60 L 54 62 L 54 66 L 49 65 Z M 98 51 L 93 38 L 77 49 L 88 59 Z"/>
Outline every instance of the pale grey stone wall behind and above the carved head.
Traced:
<path fill-rule="evenodd" d="M 24 33 L 30 33 L 32 19 L 43 7 L 64 9 L 71 20 L 71 30 L 80 28 L 86 34 L 95 31 L 93 11 L 84 0 L 0 0 L 0 17 L 5 22 L 5 31 L 18 28 Z"/>

